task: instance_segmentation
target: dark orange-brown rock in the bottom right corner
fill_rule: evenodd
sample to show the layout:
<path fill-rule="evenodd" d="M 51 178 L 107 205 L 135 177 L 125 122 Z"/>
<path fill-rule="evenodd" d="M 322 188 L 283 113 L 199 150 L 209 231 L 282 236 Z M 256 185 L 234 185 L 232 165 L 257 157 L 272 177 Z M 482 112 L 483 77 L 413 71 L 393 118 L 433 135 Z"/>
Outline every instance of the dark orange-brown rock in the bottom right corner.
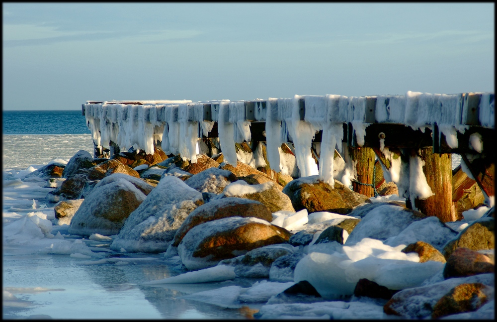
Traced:
<path fill-rule="evenodd" d="M 476 311 L 489 302 L 493 291 L 491 287 L 482 283 L 458 285 L 435 304 L 431 319 Z"/>

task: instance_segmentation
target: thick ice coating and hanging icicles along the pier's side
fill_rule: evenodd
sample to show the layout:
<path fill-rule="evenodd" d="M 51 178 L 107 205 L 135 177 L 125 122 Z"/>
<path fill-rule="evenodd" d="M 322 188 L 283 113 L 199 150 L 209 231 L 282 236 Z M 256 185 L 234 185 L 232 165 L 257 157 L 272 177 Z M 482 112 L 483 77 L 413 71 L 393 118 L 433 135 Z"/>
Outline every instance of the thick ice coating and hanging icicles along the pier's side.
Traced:
<path fill-rule="evenodd" d="M 284 172 L 285 155 L 280 147 L 291 141 L 300 177 L 319 175 L 332 184 L 334 149 L 343 152 L 346 148 L 341 144 L 343 124 L 351 124 L 358 146 L 364 144 L 369 125 L 383 123 L 403 124 L 422 132 L 436 125 L 447 144 L 456 148 L 457 132 L 464 133 L 471 125 L 495 128 L 495 95 L 407 92 L 402 96 L 295 95 L 239 102 L 88 101 L 83 112 L 96 146 L 109 146 L 112 141 L 121 149 L 134 147 L 153 153 L 154 144 L 161 141 L 167 154 L 179 154 L 192 162 L 196 162 L 198 139 L 206 137 L 217 123 L 224 160 L 234 166 L 235 143 L 251 139 L 252 122 L 265 122 L 267 158 L 272 170 Z M 322 131 L 319 169 L 311 153 L 317 131 Z M 388 156 L 388 148 L 381 143 L 380 138 L 381 150 Z M 478 142 L 474 145 L 478 146 Z M 400 171 L 400 164 L 395 162 L 390 171 L 394 182 Z M 347 183 L 353 178 L 353 173 L 348 173 L 340 179 Z"/>

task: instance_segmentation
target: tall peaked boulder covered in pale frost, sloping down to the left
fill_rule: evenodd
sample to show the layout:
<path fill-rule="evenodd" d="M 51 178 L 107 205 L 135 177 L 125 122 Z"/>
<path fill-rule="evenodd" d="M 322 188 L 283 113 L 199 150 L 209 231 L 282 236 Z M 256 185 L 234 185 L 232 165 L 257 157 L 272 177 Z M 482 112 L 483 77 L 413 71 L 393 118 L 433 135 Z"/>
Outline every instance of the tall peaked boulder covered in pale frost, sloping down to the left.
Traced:
<path fill-rule="evenodd" d="M 186 217 L 203 204 L 202 194 L 173 176 L 165 176 L 126 220 L 110 249 L 164 252 Z"/>

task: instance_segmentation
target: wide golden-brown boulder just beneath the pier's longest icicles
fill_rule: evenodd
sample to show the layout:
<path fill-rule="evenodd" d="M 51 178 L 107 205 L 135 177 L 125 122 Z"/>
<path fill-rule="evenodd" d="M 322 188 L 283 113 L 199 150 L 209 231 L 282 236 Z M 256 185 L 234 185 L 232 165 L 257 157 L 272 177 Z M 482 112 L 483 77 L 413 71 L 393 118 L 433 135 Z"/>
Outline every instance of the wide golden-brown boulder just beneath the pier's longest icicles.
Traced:
<path fill-rule="evenodd" d="M 367 196 L 358 194 L 345 187 L 338 180 L 331 187 L 319 180 L 319 176 L 309 176 L 289 182 L 283 189 L 295 210 L 307 209 L 309 213 L 331 212 L 349 214 L 352 209 L 363 203 L 370 203 Z"/>

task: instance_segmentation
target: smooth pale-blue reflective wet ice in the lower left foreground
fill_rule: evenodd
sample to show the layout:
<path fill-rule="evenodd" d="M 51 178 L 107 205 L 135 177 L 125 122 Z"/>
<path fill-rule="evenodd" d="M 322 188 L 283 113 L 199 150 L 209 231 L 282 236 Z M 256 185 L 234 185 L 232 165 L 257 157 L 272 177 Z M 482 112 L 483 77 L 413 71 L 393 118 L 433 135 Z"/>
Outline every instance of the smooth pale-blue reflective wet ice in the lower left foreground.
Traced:
<path fill-rule="evenodd" d="M 139 256 L 139 255 L 134 255 Z M 179 274 L 161 263 L 80 265 L 69 255 L 6 255 L 3 290 L 17 299 L 3 302 L 4 319 L 45 315 L 53 319 L 244 319 L 244 309 L 223 309 L 181 296 L 240 281 L 198 285 L 143 286 L 144 281 Z M 245 283 L 247 284 L 247 283 Z M 245 285 L 247 286 L 247 285 Z"/>

